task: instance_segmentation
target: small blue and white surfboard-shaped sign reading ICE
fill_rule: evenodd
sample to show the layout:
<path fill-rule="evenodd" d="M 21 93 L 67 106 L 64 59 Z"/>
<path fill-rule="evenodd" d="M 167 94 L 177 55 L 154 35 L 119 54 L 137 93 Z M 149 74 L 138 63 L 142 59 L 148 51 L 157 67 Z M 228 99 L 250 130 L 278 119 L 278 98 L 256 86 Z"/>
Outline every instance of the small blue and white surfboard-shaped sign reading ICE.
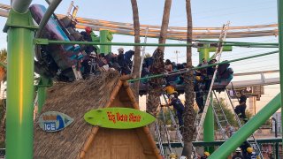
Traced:
<path fill-rule="evenodd" d="M 57 111 L 47 111 L 42 113 L 38 122 L 43 131 L 57 132 L 71 125 L 73 118 Z"/>

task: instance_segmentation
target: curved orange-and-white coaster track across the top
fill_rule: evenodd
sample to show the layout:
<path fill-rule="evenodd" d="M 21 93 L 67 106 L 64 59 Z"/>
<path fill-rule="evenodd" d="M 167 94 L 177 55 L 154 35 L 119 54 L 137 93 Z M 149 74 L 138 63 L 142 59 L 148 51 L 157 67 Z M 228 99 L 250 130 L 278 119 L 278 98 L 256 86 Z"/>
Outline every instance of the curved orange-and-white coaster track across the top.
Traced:
<path fill-rule="evenodd" d="M 8 17 L 11 6 L 0 4 L 0 16 Z M 65 15 L 57 14 L 57 17 L 63 18 Z M 92 27 L 95 31 L 110 30 L 113 34 L 134 35 L 134 25 L 131 23 L 121 23 L 115 21 L 107 21 L 102 19 L 85 19 L 77 17 L 76 27 L 83 29 Z M 148 34 L 147 34 L 147 29 Z M 222 27 L 194 27 L 193 39 L 218 39 Z M 141 25 L 141 35 L 157 38 L 159 37 L 160 26 Z M 277 36 L 278 25 L 257 25 L 243 27 L 229 27 L 226 38 L 244 38 L 244 37 L 261 37 L 261 36 Z M 187 38 L 187 27 L 168 27 L 168 39 L 185 41 Z"/>

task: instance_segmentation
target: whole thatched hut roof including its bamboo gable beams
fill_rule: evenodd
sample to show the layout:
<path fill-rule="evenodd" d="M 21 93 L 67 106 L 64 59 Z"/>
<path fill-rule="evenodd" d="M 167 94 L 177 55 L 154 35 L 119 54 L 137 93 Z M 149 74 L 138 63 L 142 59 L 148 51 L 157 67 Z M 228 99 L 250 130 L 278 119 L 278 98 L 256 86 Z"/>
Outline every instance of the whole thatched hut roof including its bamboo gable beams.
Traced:
<path fill-rule="evenodd" d="M 138 109 L 134 93 L 125 80 L 126 78 L 119 77 L 118 72 L 103 72 L 95 79 L 56 84 L 51 87 L 42 113 L 59 111 L 73 117 L 74 121 L 57 133 L 43 132 L 35 122 L 34 158 L 73 159 L 85 156 L 89 145 L 96 140 L 94 136 L 100 131 L 99 127 L 89 125 L 84 120 L 84 114 L 88 110 L 103 107 Z M 38 121 L 38 117 L 35 121 Z M 101 130 L 103 131 L 103 128 Z M 161 157 L 147 126 L 137 128 L 136 134 L 146 158 Z"/>

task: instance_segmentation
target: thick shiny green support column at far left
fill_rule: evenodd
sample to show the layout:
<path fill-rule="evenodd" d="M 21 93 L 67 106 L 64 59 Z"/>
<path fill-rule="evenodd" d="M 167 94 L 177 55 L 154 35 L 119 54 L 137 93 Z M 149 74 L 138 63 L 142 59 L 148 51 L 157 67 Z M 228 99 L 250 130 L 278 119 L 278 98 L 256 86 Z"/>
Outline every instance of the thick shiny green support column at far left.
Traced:
<path fill-rule="evenodd" d="M 4 27 L 8 34 L 6 157 L 9 159 L 33 158 L 34 28 L 30 11 L 19 13 L 11 9 Z"/>

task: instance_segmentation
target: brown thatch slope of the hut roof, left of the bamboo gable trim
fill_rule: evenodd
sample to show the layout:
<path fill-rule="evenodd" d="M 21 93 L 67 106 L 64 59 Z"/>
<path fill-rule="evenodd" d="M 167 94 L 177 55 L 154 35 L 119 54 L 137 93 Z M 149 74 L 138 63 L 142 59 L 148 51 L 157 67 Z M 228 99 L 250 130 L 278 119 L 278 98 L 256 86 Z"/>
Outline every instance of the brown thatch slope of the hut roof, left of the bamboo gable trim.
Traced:
<path fill-rule="evenodd" d="M 118 79 L 118 72 L 103 72 L 95 79 L 50 87 L 42 113 L 59 111 L 73 117 L 74 121 L 56 134 L 43 132 L 35 122 L 34 158 L 77 158 L 93 127 L 84 121 L 84 114 L 88 110 L 103 107 Z M 38 121 L 37 119 L 35 121 Z"/>

